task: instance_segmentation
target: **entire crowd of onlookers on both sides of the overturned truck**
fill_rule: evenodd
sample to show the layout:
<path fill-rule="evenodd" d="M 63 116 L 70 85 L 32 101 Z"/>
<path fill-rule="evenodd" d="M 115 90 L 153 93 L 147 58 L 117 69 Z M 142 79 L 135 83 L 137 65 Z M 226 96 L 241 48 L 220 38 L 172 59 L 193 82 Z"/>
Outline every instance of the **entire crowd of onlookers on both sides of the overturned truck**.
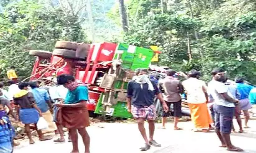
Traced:
<path fill-rule="evenodd" d="M 178 126 L 182 117 L 182 94 L 186 94 L 193 131 L 209 132 L 215 129 L 221 142 L 220 147 L 228 151 L 243 151 L 234 146 L 230 140 L 230 133 L 235 131 L 233 118 L 235 117 L 239 132 L 244 132 L 241 111 L 245 116 L 244 128 L 249 128 L 249 112 L 252 105 L 256 104 L 256 88 L 244 83 L 242 77 L 235 81 L 228 79 L 226 71 L 214 68 L 212 81 L 208 85 L 200 80 L 201 73 L 191 70 L 188 74 L 179 73 L 185 77 L 180 81 L 177 72 L 167 70 L 164 79 L 157 75 L 153 80 L 149 78 L 147 69 L 139 69 L 133 80 L 128 83 L 127 109 L 137 120 L 138 129 L 145 141 L 140 149 L 147 151 L 151 146 L 160 147 L 154 139 L 156 108 L 155 98 L 162 104 L 162 127 L 165 129 L 167 117 L 171 116 L 173 105 L 174 130 L 183 130 Z M 81 135 L 85 153 L 90 152 L 90 137 L 86 127 L 90 126 L 89 114 L 86 108 L 88 101 L 87 85 L 78 82 L 70 75 L 60 75 L 53 79 L 54 86 L 48 90 L 42 89 L 37 81 L 20 82 L 13 68 L 8 71 L 10 81 L 8 91 L 4 90 L 4 83 L 0 82 L 0 152 L 11 153 L 13 146 L 19 145 L 13 141 L 15 129 L 8 115 L 14 120 L 20 120 L 25 125 L 29 144 L 34 144 L 30 132 L 31 125 L 37 131 L 39 140 L 51 140 L 52 137 L 44 136 L 46 132 L 55 132 L 60 137 L 54 142 L 64 143 L 63 127 L 68 129 L 68 142 L 72 142 L 72 153 L 78 151 L 78 133 Z M 5 109 L 7 107 L 9 111 Z M 16 109 L 17 116 L 13 111 Z M 37 122 L 43 117 L 47 121 L 48 129 L 38 129 Z M 149 124 L 149 137 L 144 127 L 145 120 Z"/>

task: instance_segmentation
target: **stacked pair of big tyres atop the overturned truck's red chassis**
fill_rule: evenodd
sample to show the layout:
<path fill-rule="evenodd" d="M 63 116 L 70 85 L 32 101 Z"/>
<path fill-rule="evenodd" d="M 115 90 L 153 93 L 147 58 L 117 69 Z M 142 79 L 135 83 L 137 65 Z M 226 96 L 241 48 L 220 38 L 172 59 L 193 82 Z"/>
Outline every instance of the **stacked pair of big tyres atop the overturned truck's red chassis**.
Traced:
<path fill-rule="evenodd" d="M 74 60 L 86 60 L 89 45 L 77 42 L 58 41 L 55 44 L 53 55 Z"/>

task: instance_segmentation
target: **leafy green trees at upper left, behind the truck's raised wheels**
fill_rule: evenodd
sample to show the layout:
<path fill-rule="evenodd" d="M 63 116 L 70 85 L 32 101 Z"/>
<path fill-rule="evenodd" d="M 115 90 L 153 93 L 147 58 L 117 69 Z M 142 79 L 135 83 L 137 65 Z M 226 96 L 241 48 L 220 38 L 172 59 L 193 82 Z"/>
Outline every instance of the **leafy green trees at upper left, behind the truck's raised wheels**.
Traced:
<path fill-rule="evenodd" d="M 77 16 L 60 8 L 46 8 L 37 1 L 20 1 L 5 7 L 0 16 L 1 77 L 10 66 L 21 78 L 30 76 L 34 59 L 29 50 L 53 50 L 58 40 L 84 42 L 86 37 Z"/>

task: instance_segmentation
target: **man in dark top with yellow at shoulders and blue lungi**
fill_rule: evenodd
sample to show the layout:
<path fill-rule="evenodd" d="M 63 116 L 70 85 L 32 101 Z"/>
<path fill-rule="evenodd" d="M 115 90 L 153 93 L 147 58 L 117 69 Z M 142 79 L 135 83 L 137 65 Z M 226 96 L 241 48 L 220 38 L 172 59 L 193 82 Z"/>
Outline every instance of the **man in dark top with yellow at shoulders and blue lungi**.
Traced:
<path fill-rule="evenodd" d="M 28 91 L 28 82 L 19 83 L 19 88 L 21 89 L 18 93 L 14 94 L 13 100 L 16 105 L 19 105 L 19 119 L 23 124 L 25 124 L 25 130 L 29 138 L 29 143 L 34 144 L 32 135 L 30 132 L 30 124 L 35 124 L 37 129 L 37 122 L 39 117 L 42 116 L 41 110 L 37 107 L 35 103 L 35 98 L 31 92 Z M 37 133 L 40 141 L 50 140 L 52 138 L 44 137 L 42 130 L 37 129 Z"/>

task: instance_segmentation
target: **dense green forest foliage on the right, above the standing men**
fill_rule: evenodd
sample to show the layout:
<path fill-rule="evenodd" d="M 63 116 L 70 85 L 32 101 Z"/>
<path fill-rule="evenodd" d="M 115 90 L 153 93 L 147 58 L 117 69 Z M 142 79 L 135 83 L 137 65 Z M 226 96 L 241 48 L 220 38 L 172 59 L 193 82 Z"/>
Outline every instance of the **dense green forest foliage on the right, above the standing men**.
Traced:
<path fill-rule="evenodd" d="M 200 70 L 205 81 L 211 79 L 212 68 L 222 67 L 231 79 L 243 75 L 256 83 L 255 1 L 165 0 L 164 14 L 153 11 L 161 8 L 154 2 L 139 8 L 141 16 L 125 34 L 126 42 L 157 45 L 162 51 L 161 65 L 184 72 Z"/>

